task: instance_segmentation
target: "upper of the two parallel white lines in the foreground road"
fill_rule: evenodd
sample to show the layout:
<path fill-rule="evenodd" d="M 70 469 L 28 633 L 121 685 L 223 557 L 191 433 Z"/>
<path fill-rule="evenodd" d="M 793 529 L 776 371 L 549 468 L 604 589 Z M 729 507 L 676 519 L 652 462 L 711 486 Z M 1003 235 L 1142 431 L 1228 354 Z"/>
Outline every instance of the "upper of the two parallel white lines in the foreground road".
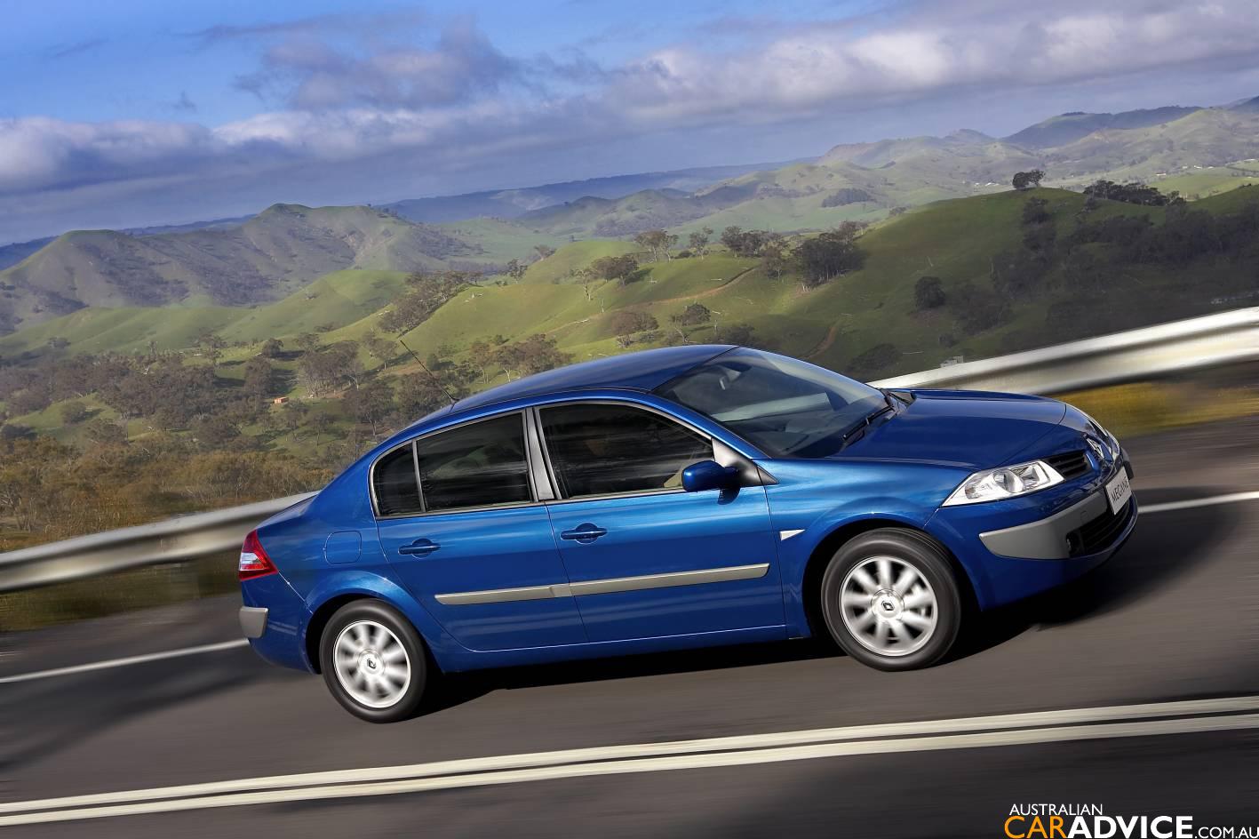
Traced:
<path fill-rule="evenodd" d="M 183 786 L 63 796 L 38 801 L 14 801 L 0 804 L 0 814 L 83 808 L 101 804 L 152 801 L 159 799 L 222 795 L 225 792 L 313 787 L 327 784 L 363 784 L 374 781 L 410 780 L 467 772 L 520 770 L 608 760 L 661 757 L 687 752 L 740 751 L 749 748 L 765 748 L 771 746 L 799 746 L 872 737 L 919 737 L 923 734 L 956 734 L 977 731 L 992 732 L 1045 726 L 1068 726 L 1117 721 L 1131 722 L 1156 717 L 1186 718 L 1200 717 L 1204 714 L 1243 712 L 1259 712 L 1259 695 L 1225 697 L 1220 699 L 1186 699 L 1134 705 L 1102 705 L 1097 708 L 1066 708 L 1061 711 L 1034 711 L 1016 714 L 996 714 L 990 717 L 959 717 L 953 719 L 845 726 L 840 728 L 813 728 L 806 731 L 774 732 L 768 734 L 738 734 L 733 737 L 708 737 L 703 739 L 681 739 L 662 743 L 599 746 L 592 748 L 570 748 L 551 752 L 504 755 L 496 757 L 472 757 L 404 766 L 334 770 L 326 772 L 305 772 L 298 775 L 272 775 L 230 781 L 212 781 L 209 784 L 188 784 Z"/>

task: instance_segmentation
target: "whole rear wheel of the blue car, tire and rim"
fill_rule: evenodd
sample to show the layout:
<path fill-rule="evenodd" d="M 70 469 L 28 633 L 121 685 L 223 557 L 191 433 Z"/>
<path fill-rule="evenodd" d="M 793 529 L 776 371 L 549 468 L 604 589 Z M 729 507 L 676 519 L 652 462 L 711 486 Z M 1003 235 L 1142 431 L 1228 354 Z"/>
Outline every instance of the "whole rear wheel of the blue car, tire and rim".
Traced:
<path fill-rule="evenodd" d="M 341 705 L 368 722 L 397 722 L 419 708 L 428 678 L 424 641 L 395 608 L 346 603 L 320 637 L 324 682 Z"/>

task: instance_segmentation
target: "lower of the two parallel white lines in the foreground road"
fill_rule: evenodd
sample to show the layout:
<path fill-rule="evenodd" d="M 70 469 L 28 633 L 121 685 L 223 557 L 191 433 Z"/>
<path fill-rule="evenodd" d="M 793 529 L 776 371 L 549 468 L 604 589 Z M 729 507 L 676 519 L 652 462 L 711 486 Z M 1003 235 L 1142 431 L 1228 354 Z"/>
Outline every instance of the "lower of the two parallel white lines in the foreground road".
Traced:
<path fill-rule="evenodd" d="M 1175 719 L 1066 726 L 1058 728 L 1021 728 L 1013 731 L 969 734 L 810 743 L 777 748 L 622 758 L 587 763 L 560 763 L 528 768 L 509 768 L 502 771 L 482 771 L 472 773 L 465 772 L 439 777 L 409 777 L 402 780 L 360 782 L 339 786 L 258 790 L 228 795 L 185 797 L 165 801 L 144 801 L 115 806 L 50 810 L 43 813 L 28 811 L 19 815 L 0 816 L 0 826 L 249 806 L 257 804 L 400 795 L 429 790 L 452 790 L 499 784 L 524 784 L 528 781 L 548 781 L 604 775 L 665 772 L 674 770 L 714 768 L 723 766 L 749 766 L 825 757 L 850 757 L 855 755 L 886 755 L 954 748 L 1026 746 L 1034 743 L 1080 742 L 1118 737 L 1151 737 L 1158 734 L 1187 734 L 1253 728 L 1259 728 L 1259 714 L 1240 714 L 1230 717 L 1181 717 Z"/>

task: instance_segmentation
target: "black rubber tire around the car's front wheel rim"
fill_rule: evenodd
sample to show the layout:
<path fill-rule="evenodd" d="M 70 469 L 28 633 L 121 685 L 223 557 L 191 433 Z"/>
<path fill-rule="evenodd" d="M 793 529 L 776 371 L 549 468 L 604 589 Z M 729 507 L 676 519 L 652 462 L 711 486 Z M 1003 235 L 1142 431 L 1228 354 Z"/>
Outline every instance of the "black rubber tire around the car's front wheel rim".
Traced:
<path fill-rule="evenodd" d="M 905 606 L 908 597 L 898 595 L 895 591 L 893 591 L 893 597 L 878 593 L 870 595 L 871 606 L 869 612 L 874 615 L 875 621 L 870 630 L 871 632 L 878 629 L 879 622 L 884 621 L 876 606 L 884 606 L 896 617 L 904 619 L 898 631 L 909 631 L 900 629 L 905 626 L 904 621 L 908 621 L 908 617 L 904 615 L 905 612 L 914 612 L 914 619 L 918 622 L 922 621 L 923 615 L 934 619 L 934 625 L 930 630 L 920 631 L 927 637 L 917 648 L 914 644 L 919 642 L 918 639 L 901 641 L 900 636 L 895 631 L 891 631 L 889 625 L 885 637 L 891 639 L 890 645 L 901 644 L 910 651 L 889 650 L 888 653 L 880 653 L 867 645 L 875 642 L 872 636 L 865 636 L 865 641 L 859 639 L 857 632 L 854 631 L 850 622 L 857 624 L 865 620 L 865 612 L 861 611 L 860 606 L 849 606 L 850 620 L 845 620 L 845 606 L 841 605 L 842 586 L 849 581 L 850 585 L 860 587 L 860 581 L 856 579 L 859 574 L 854 569 L 859 566 L 869 568 L 870 566 L 865 563 L 871 562 L 876 567 L 878 558 L 883 557 L 899 563 L 894 564 L 893 568 L 904 568 L 908 566 L 917 571 L 922 579 L 928 583 L 929 593 L 934 596 L 934 603 L 929 607 L 922 606 L 910 610 Z M 851 579 L 849 577 L 850 572 L 854 572 L 854 578 Z M 878 583 L 879 581 L 875 582 Z M 867 587 L 861 588 L 861 591 L 854 591 L 854 597 L 864 596 Z M 923 597 L 925 590 L 927 587 L 922 585 L 913 588 L 915 601 Z M 879 588 L 879 591 L 884 591 L 884 588 Z M 944 549 L 934 539 L 917 530 L 880 528 L 850 539 L 835 552 L 835 556 L 827 563 L 818 595 L 821 597 L 822 616 L 826 619 L 826 627 L 830 630 L 835 642 L 857 661 L 879 670 L 917 670 L 935 664 L 953 646 L 962 625 L 962 596 L 948 554 L 946 554 Z M 914 631 L 919 631 L 917 627 L 913 629 Z"/>

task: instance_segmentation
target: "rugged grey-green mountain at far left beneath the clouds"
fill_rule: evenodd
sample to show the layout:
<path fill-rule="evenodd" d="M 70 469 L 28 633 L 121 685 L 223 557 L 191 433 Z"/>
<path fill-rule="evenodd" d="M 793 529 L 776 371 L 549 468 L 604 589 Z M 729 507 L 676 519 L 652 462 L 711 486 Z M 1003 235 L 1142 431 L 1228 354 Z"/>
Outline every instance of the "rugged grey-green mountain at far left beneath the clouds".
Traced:
<path fill-rule="evenodd" d="M 478 256 L 368 207 L 276 204 L 243 224 L 154 236 L 76 231 L 0 271 L 0 331 L 83 306 L 249 305 L 342 268 L 410 271 Z"/>

